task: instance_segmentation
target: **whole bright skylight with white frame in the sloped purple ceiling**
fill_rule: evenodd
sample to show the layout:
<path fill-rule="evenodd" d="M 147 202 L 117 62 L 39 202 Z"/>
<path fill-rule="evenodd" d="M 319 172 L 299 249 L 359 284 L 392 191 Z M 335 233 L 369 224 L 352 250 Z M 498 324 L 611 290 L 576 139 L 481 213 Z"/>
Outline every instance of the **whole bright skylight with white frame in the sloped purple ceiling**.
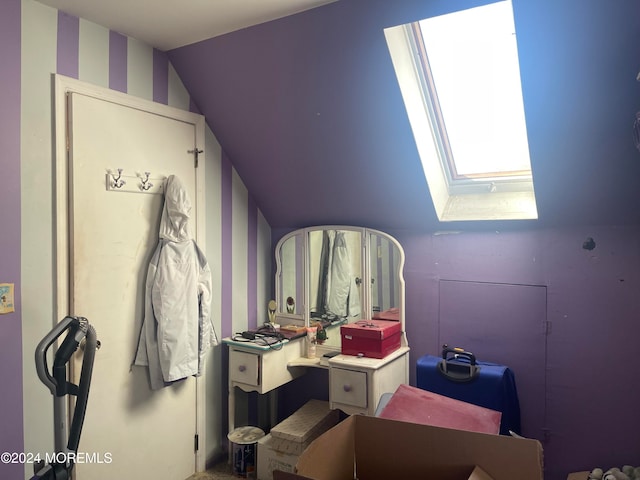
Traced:
<path fill-rule="evenodd" d="M 511 1 L 385 35 L 438 218 L 537 218 Z"/>

